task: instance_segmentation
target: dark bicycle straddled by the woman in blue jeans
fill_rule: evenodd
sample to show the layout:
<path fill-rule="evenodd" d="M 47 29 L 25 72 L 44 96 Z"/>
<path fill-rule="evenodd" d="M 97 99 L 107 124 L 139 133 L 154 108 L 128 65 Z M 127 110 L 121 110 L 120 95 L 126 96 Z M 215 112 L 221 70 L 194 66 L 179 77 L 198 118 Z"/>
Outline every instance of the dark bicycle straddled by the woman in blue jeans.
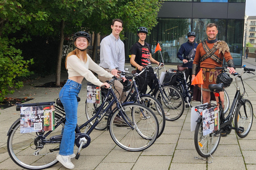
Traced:
<path fill-rule="evenodd" d="M 115 77 L 109 83 L 114 80 L 116 80 Z M 141 151 L 155 142 L 158 135 L 158 122 L 154 113 L 141 104 L 120 104 L 111 84 L 107 97 L 109 95 L 113 97 L 113 100 L 105 110 L 102 110 L 103 104 L 106 102 L 106 100 L 103 100 L 97 114 L 89 121 L 76 126 L 75 145 L 78 147 L 76 159 L 79 158 L 81 149 L 90 145 L 90 133 L 114 103 L 116 103 L 117 108 L 108 117 L 108 130 L 111 138 L 119 147 L 128 151 Z M 51 101 L 36 104 L 17 104 L 17 111 L 20 110 L 20 107 L 53 105 L 54 103 L 54 101 Z M 56 156 L 59 153 L 62 128 L 66 122 L 65 111 L 60 100 L 57 100 L 55 112 L 57 113 L 55 113 L 55 130 L 53 131 L 20 133 L 20 118 L 12 124 L 7 133 L 7 150 L 15 164 L 26 169 L 44 169 L 58 163 Z M 145 120 L 141 120 L 140 114 L 145 117 Z M 90 127 L 89 123 L 93 120 L 95 122 Z M 118 120 L 125 126 L 118 123 Z M 82 133 L 82 130 L 84 133 Z"/>

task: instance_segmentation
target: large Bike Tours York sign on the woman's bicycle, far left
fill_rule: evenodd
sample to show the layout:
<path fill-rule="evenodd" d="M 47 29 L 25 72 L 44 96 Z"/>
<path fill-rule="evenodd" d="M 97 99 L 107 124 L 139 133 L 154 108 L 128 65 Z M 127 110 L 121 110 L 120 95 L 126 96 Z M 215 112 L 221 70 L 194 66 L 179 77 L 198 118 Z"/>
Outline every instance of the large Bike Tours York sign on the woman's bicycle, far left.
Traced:
<path fill-rule="evenodd" d="M 54 111 L 54 105 L 21 107 L 20 133 L 54 130 Z"/>

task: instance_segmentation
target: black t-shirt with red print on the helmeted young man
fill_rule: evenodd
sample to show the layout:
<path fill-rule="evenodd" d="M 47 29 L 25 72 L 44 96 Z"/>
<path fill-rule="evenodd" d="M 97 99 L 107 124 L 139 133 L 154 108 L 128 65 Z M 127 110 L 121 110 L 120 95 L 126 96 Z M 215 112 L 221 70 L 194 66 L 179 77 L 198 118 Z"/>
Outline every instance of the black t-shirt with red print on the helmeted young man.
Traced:
<path fill-rule="evenodd" d="M 135 55 L 135 62 L 141 66 L 150 63 L 151 48 L 148 43 L 142 46 L 139 42 L 135 43 L 131 48 L 131 54 Z"/>

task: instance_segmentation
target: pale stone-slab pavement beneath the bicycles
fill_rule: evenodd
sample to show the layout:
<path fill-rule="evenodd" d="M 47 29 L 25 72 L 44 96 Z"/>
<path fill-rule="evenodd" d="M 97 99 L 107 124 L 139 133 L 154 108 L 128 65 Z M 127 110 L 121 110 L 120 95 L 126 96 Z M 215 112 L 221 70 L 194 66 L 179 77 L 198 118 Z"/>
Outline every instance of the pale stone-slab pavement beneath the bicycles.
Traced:
<path fill-rule="evenodd" d="M 256 69 L 255 58 L 243 61 L 247 67 Z M 130 64 L 126 65 L 130 67 Z M 166 68 L 175 68 L 167 65 Z M 130 70 L 131 71 L 131 70 Z M 241 69 L 237 69 L 241 73 Z M 256 111 L 256 75 L 244 74 L 247 95 Z M 16 90 L 8 97 L 32 97 L 28 103 L 54 101 L 58 98 L 60 88 L 34 88 L 39 84 L 54 81 L 55 77 L 47 77 L 25 83 L 25 87 Z M 62 74 L 61 81 L 67 79 Z M 81 102 L 78 106 L 79 114 L 84 114 L 86 98 L 86 81 L 80 93 Z M 254 84 L 254 85 L 253 85 Z M 227 89 L 229 98 L 233 100 L 235 84 Z M 192 102 L 193 106 L 199 103 Z M 78 160 L 73 159 L 75 169 L 256 169 L 256 120 L 249 135 L 241 139 L 232 131 L 227 137 L 222 137 L 220 145 L 213 154 L 213 163 L 207 164 L 203 160 L 194 159 L 197 152 L 194 146 L 194 132 L 190 131 L 190 108 L 177 121 L 166 121 L 166 127 L 160 138 L 153 146 L 140 152 L 125 151 L 115 145 L 108 131 L 94 130 L 91 134 L 92 142 L 89 147 L 81 151 Z M 7 131 L 12 123 L 19 118 L 15 107 L 0 110 L 0 169 L 22 169 L 12 162 L 6 149 Z M 254 117 L 255 118 L 255 117 Z M 65 169 L 60 163 L 50 169 Z"/>

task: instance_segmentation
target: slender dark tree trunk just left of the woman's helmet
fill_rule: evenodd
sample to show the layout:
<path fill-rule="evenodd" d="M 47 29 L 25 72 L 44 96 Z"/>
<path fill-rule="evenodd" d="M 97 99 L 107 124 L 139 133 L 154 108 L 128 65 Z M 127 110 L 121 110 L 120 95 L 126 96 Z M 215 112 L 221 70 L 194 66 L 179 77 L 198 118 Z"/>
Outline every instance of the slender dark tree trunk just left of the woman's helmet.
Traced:
<path fill-rule="evenodd" d="M 61 20 L 60 22 L 60 44 L 59 44 L 59 52 L 58 52 L 58 59 L 57 59 L 57 66 L 56 66 L 56 79 L 55 83 L 56 86 L 60 86 L 60 71 L 61 71 L 61 59 L 62 59 L 62 49 L 64 44 L 64 28 L 65 28 L 65 21 Z"/>

